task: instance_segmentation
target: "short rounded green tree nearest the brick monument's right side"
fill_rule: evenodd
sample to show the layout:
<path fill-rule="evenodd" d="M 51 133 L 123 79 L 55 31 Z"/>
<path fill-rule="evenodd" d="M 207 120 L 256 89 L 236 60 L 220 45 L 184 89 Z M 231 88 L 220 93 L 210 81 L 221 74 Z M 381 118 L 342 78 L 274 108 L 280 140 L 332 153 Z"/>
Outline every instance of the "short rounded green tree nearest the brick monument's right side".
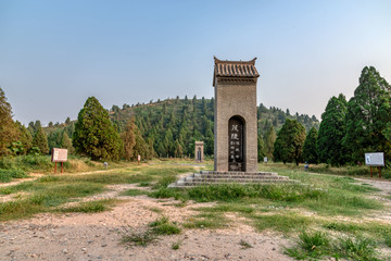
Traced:
<path fill-rule="evenodd" d="M 287 119 L 277 134 L 273 152 L 274 159 L 283 163 L 294 161 L 299 165 L 303 158 L 304 140 L 304 126 L 295 120 Z"/>

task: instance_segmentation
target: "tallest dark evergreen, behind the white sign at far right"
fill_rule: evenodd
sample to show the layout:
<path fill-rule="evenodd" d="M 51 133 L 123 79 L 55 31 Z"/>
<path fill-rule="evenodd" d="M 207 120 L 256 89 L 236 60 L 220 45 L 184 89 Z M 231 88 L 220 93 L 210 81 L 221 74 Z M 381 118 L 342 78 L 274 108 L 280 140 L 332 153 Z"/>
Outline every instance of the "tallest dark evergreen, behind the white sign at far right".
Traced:
<path fill-rule="evenodd" d="M 352 160 L 362 161 L 365 152 L 381 151 L 391 157 L 391 142 L 383 130 L 391 122 L 391 86 L 375 67 L 364 67 L 360 85 L 348 103 L 348 132 L 344 145 Z"/>

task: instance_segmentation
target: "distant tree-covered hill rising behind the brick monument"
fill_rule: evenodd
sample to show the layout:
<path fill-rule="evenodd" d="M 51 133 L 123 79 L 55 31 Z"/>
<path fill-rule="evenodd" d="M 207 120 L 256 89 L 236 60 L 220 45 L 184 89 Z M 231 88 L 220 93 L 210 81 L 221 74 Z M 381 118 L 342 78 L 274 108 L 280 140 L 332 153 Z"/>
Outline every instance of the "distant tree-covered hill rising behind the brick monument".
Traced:
<path fill-rule="evenodd" d="M 161 157 L 192 156 L 194 140 L 203 140 L 205 154 L 213 154 L 213 128 L 214 128 L 214 99 L 192 99 L 179 97 L 175 99 L 150 101 L 144 104 L 124 104 L 122 108 L 113 105 L 109 110 L 111 121 L 118 132 L 122 132 L 129 119 L 135 116 L 136 124 L 140 128 L 147 142 L 153 146 Z M 257 107 L 258 136 L 264 137 L 267 130 L 274 126 L 278 132 L 286 119 L 298 120 L 308 132 L 313 126 L 319 127 L 319 121 L 315 116 L 306 114 L 290 114 L 289 110 L 279 108 L 266 108 L 262 103 Z M 72 137 L 74 123 L 55 124 L 46 128 L 49 144 L 50 137 L 56 138 L 55 133 L 67 132 Z"/>

